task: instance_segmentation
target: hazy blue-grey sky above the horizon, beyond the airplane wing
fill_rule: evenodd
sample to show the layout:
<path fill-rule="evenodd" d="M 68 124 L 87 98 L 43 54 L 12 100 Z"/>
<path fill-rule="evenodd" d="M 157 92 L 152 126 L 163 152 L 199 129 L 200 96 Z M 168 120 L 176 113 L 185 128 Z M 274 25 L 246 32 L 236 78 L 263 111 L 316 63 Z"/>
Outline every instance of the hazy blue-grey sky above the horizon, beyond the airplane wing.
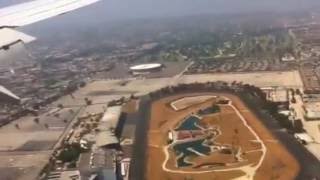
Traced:
<path fill-rule="evenodd" d="M 26 0 L 0 0 L 0 6 Z M 99 28 L 110 21 L 184 16 L 194 14 L 221 14 L 239 12 L 288 11 L 320 7 L 320 0 L 101 0 L 62 16 L 50 18 L 23 27 L 26 32 L 61 32 L 83 27 Z M 46 29 L 44 29 L 46 28 Z"/>

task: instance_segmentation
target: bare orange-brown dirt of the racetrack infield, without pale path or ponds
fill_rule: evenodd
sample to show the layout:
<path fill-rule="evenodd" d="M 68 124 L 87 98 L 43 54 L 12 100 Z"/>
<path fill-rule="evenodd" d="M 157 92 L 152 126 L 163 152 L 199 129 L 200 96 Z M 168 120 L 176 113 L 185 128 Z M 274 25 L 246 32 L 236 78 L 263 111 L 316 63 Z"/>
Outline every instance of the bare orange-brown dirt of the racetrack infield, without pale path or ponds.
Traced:
<path fill-rule="evenodd" d="M 270 179 L 277 177 L 277 179 L 294 179 L 299 172 L 299 164 L 294 157 L 280 144 L 275 137 L 268 131 L 268 129 L 257 119 L 257 117 L 243 104 L 243 102 L 236 96 L 230 94 L 217 93 L 197 93 L 197 94 L 183 94 L 160 99 L 152 104 L 151 119 L 148 130 L 148 148 L 147 148 L 147 171 L 146 177 L 148 180 L 183 180 L 185 178 L 193 178 L 199 180 L 212 179 L 232 179 L 243 176 L 242 171 L 227 171 L 227 172 L 211 172 L 201 174 L 179 174 L 170 173 L 162 170 L 162 162 L 164 161 L 164 153 L 162 147 L 167 143 L 167 132 L 170 128 L 174 128 L 176 124 L 184 117 L 192 112 L 197 112 L 198 109 L 207 107 L 213 101 L 207 101 L 201 104 L 190 106 L 181 111 L 174 111 L 166 106 L 172 100 L 177 98 L 199 95 L 223 95 L 232 100 L 234 106 L 246 118 L 247 123 L 256 131 L 258 136 L 264 141 L 267 147 L 267 154 L 258 169 L 255 179 Z M 217 142 L 230 143 L 234 133 L 234 129 L 238 130 L 238 140 L 244 151 L 251 151 L 259 149 L 259 143 L 252 142 L 254 136 L 249 130 L 239 123 L 240 119 L 237 117 L 230 107 L 222 107 L 222 113 L 218 116 L 204 117 L 204 122 L 216 124 L 220 126 L 222 135 L 217 138 Z M 229 133 L 226 133 L 229 132 Z M 248 141 L 249 140 L 249 141 Z M 170 157 L 174 157 L 171 153 Z M 250 152 L 244 155 L 251 163 L 257 163 L 261 157 L 261 152 Z M 213 157 L 212 157 L 213 158 Z M 208 159 L 206 159 L 208 161 Z M 210 160 L 210 159 L 209 159 Z M 205 161 L 199 158 L 196 161 Z M 170 158 L 168 167 L 174 167 L 175 161 Z"/>

